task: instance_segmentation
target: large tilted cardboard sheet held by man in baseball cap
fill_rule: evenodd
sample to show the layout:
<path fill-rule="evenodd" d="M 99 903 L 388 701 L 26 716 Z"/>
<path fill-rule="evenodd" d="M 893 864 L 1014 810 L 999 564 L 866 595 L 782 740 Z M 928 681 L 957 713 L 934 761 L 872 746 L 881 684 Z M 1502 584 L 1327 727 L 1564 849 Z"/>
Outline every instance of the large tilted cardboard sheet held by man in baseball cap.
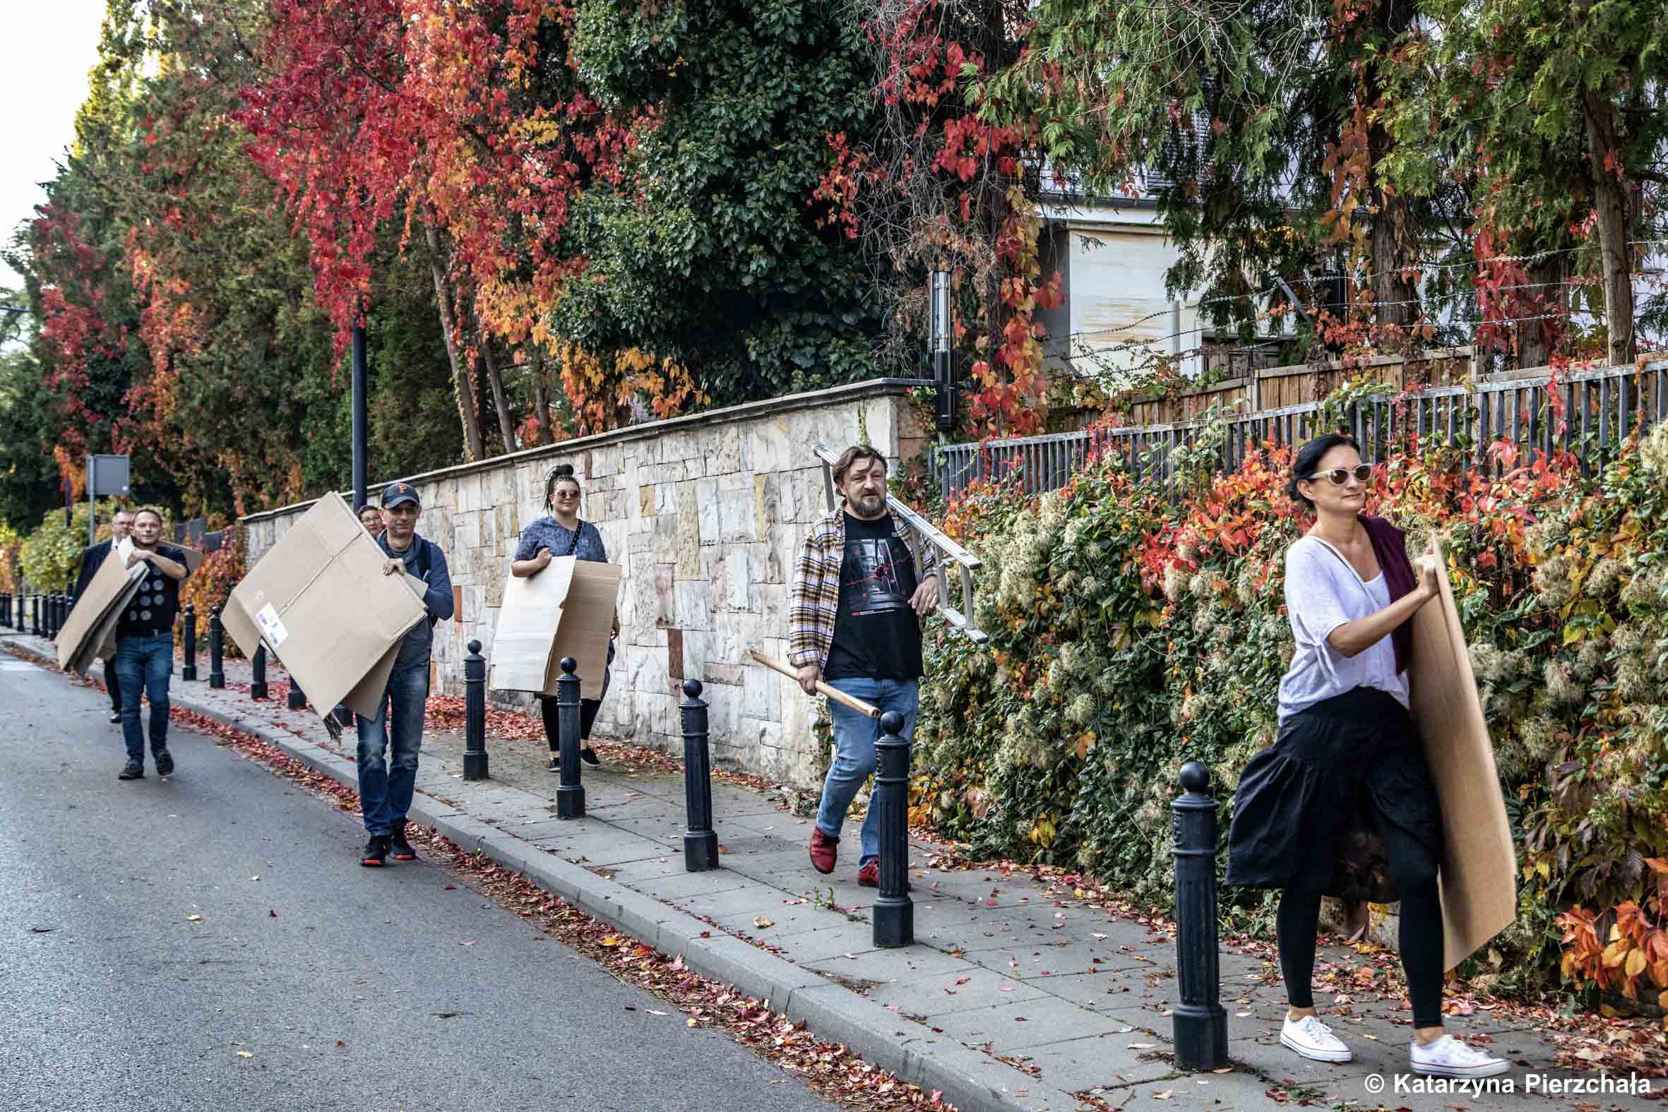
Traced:
<path fill-rule="evenodd" d="M 339 493 L 319 498 L 232 589 L 220 612 L 245 655 L 267 649 L 320 715 L 375 715 L 400 639 L 427 622 L 422 584 L 387 557 Z"/>

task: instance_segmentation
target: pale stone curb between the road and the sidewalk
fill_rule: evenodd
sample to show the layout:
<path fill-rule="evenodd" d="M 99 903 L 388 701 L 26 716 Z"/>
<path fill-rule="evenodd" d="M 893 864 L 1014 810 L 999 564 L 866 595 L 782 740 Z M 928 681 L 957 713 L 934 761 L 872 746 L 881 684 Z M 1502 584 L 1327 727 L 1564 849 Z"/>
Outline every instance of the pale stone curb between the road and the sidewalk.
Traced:
<path fill-rule="evenodd" d="M 47 660 L 32 645 L 20 644 L 22 639 L 15 635 L 3 640 L 18 654 Z M 57 662 L 50 660 L 50 664 Z M 314 742 L 279 730 L 267 722 L 229 714 L 178 690 L 170 692 L 170 702 L 210 722 L 250 734 L 345 787 L 355 790 L 359 787 L 359 770 L 354 762 Z M 746 995 L 767 1000 L 777 1012 L 794 1022 L 804 1022 L 821 1039 L 844 1044 L 871 1065 L 889 1070 L 901 1080 L 927 1092 L 942 1092 L 944 1100 L 962 1112 L 1039 1112 L 1044 1109 L 1059 1112 L 1059 1109 L 1078 1105 L 1069 1094 L 1041 1084 L 1027 1084 L 1029 1079 L 1017 1070 L 947 1035 L 934 1037 L 926 1027 L 917 1027 L 922 1034 L 916 1035 L 907 1030 L 909 1020 L 889 1012 L 881 1004 L 734 935 L 722 934 L 694 915 L 627 889 L 617 880 L 600 877 L 589 869 L 544 852 L 530 842 L 470 819 L 445 800 L 417 792 L 412 800 L 412 819 L 434 827 L 459 849 L 479 850 L 497 864 L 527 875 L 542 889 L 639 942 L 662 954 L 682 957 L 684 964 L 696 974 L 732 985 Z M 1017 1089 L 1024 1089 L 1027 1095 L 1021 1097 L 1014 1090 L 997 1085 L 994 1079 L 1002 1075 L 1017 1082 Z"/>

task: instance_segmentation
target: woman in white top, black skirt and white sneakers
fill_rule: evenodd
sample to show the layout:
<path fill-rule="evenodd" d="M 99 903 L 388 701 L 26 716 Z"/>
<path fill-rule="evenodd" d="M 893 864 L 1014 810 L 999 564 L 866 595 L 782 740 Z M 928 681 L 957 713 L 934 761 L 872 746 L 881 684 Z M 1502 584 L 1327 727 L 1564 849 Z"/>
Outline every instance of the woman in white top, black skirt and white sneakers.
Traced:
<path fill-rule="evenodd" d="M 1228 884 L 1279 889 L 1283 1045 L 1318 1062 L 1354 1057 L 1314 1012 L 1321 897 L 1401 900 L 1414 1074 L 1493 1077 L 1508 1064 L 1443 1029 L 1441 805 L 1408 714 L 1413 615 L 1441 569 L 1414 572 L 1399 528 L 1363 513 L 1373 468 L 1346 435 L 1298 450 L 1291 497 L 1314 525 L 1286 550 L 1296 652 L 1279 682 L 1279 735 L 1246 765 L 1228 834 Z"/>

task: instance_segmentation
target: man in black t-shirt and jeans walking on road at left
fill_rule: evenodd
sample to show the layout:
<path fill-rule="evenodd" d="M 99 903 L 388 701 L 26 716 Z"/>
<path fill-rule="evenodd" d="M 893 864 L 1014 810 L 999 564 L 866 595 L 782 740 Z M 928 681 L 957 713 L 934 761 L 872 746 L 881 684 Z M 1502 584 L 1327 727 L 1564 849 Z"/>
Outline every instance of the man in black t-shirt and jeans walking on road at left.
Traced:
<path fill-rule="evenodd" d="M 185 579 L 185 553 L 162 538 L 162 513 L 143 508 L 133 513 L 133 550 L 127 567 L 148 564 L 138 594 L 115 625 L 115 677 L 122 685 L 122 740 L 127 742 L 127 767 L 118 780 L 145 775 L 145 730 L 138 722 L 138 697 L 150 699 L 150 754 L 157 775 L 173 772 L 168 754 L 168 680 L 173 675 L 173 617 L 180 610 L 180 580 Z"/>

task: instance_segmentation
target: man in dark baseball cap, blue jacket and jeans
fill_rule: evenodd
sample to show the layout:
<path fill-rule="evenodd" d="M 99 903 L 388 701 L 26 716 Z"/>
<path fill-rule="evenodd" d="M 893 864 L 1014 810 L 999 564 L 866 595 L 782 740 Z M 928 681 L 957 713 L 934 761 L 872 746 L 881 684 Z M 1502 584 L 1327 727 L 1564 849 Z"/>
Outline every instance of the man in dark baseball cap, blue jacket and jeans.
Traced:
<path fill-rule="evenodd" d="M 422 580 L 429 620 L 405 634 L 389 674 L 389 687 L 377 705 L 377 717 L 354 715 L 359 725 L 359 805 L 365 815 L 370 842 L 359 859 L 367 869 L 394 860 L 415 860 L 417 852 L 405 840 L 405 812 L 417 785 L 417 752 L 422 749 L 424 707 L 429 700 L 429 655 L 434 649 L 434 624 L 452 617 L 452 574 L 445 567 L 440 545 L 417 535 L 422 502 L 410 483 L 389 483 L 382 490 L 382 517 L 387 530 L 377 545 L 387 553 L 384 575 L 405 572 Z M 384 760 L 392 732 L 392 754 Z"/>

